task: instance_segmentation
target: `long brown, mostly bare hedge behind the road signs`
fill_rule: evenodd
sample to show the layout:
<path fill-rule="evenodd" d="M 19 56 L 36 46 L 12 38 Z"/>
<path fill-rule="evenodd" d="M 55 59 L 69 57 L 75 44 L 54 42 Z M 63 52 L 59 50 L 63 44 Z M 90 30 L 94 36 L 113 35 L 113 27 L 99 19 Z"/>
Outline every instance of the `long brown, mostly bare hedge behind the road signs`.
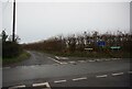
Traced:
<path fill-rule="evenodd" d="M 99 45 L 102 42 L 103 45 Z M 117 34 L 106 32 L 84 32 L 82 34 L 73 34 L 64 37 L 63 35 L 51 37 L 45 41 L 23 44 L 26 49 L 47 51 L 47 52 L 130 52 L 132 42 L 132 34 L 117 31 Z M 112 49 L 112 47 L 120 47 Z"/>

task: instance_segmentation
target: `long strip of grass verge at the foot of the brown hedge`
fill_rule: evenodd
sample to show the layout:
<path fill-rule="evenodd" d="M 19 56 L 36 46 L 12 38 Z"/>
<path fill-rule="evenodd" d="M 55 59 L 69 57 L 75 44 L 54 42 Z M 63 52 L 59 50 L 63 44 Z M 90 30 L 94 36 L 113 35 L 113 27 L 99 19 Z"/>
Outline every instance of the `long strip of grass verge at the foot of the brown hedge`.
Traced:
<path fill-rule="evenodd" d="M 55 56 L 64 56 L 64 57 L 87 57 L 87 58 L 130 58 L 131 55 L 128 52 L 74 52 L 74 53 L 61 53 L 61 52 L 44 52 L 48 54 L 53 54 Z"/>

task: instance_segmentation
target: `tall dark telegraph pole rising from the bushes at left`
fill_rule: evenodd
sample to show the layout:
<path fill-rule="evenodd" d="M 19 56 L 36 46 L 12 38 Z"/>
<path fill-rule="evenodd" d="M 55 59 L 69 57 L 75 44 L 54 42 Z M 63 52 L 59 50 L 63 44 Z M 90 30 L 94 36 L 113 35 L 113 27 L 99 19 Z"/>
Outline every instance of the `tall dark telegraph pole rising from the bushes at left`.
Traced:
<path fill-rule="evenodd" d="M 15 0 L 13 1 L 13 27 L 12 27 L 12 42 L 15 40 Z"/>

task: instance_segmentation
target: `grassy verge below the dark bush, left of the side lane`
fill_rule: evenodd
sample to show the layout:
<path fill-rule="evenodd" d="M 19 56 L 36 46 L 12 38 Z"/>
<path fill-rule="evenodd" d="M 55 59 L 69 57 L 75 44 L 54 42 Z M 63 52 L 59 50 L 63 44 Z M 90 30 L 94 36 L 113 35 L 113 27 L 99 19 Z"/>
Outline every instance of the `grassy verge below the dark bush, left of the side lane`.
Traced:
<path fill-rule="evenodd" d="M 3 58 L 2 59 L 2 65 L 9 65 L 9 64 L 14 64 L 14 63 L 19 63 L 22 62 L 24 59 L 30 58 L 30 53 L 28 52 L 23 52 L 22 54 L 20 54 L 18 57 L 13 57 L 13 58 Z"/>

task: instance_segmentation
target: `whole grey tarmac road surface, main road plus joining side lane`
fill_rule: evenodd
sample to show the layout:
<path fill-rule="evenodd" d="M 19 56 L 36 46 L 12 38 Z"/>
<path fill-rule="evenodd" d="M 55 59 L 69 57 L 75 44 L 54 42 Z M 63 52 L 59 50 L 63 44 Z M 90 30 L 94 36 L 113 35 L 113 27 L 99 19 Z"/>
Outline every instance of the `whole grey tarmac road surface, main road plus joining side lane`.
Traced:
<path fill-rule="evenodd" d="M 3 67 L 3 87 L 33 87 L 48 82 L 51 87 L 130 87 L 129 59 L 62 60 L 37 52 L 20 64 Z"/>

